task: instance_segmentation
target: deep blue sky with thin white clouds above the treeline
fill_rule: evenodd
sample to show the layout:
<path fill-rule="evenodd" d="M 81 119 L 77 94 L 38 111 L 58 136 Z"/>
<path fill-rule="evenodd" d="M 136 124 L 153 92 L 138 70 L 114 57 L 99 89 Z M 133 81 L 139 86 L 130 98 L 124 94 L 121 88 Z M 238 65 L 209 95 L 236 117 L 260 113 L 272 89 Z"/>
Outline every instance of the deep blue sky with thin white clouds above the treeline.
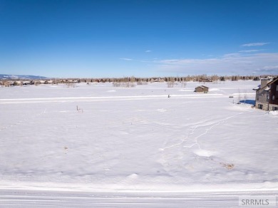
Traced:
<path fill-rule="evenodd" d="M 278 1 L 0 0 L 0 73 L 278 74 Z"/>

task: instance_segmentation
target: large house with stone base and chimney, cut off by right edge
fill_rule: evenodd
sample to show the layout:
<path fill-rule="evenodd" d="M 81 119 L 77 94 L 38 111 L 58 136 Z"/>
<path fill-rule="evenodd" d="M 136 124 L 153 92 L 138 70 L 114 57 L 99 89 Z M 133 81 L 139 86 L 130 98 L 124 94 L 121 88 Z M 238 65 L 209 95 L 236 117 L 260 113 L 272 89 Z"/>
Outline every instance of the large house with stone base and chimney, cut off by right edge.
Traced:
<path fill-rule="evenodd" d="M 256 108 L 278 110 L 278 77 L 261 79 L 261 84 L 253 90 L 256 90 Z"/>

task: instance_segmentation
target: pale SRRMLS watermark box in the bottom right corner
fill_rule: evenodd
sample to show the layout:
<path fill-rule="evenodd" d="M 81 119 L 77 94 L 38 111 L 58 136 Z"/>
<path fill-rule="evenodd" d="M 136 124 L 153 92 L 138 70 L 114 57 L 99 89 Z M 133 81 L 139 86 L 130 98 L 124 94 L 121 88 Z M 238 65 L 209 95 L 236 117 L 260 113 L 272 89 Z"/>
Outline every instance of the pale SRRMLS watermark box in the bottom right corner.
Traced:
<path fill-rule="evenodd" d="M 276 196 L 240 196 L 240 207 L 276 207 Z"/>

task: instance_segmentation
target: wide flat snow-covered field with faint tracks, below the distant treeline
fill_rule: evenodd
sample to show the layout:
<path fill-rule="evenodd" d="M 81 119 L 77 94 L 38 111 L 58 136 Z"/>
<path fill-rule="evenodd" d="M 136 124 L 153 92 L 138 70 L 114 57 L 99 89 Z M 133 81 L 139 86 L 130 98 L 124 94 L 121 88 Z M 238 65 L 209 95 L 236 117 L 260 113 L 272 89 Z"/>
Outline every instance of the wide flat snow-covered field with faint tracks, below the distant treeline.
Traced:
<path fill-rule="evenodd" d="M 208 94 L 194 93 L 202 84 L 0 88 L 0 206 L 22 189 L 183 199 L 202 191 L 195 197 L 205 202 L 215 192 L 277 194 L 278 115 L 237 104 L 252 103 L 259 82 L 209 83 Z"/>

